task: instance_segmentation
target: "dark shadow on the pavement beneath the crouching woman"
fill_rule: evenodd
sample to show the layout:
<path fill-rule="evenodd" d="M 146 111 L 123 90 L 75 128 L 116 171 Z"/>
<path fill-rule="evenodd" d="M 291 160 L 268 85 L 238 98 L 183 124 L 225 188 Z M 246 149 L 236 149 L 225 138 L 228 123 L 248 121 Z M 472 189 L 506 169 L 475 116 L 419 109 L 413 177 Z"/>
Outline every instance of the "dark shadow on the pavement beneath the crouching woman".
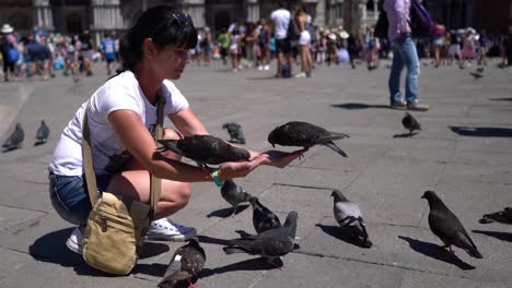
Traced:
<path fill-rule="evenodd" d="M 72 267 L 78 275 L 88 276 L 113 276 L 101 271 L 90 267 L 83 260 L 81 254 L 74 253 L 66 247 L 66 241 L 69 235 L 74 228 L 66 228 L 57 231 L 49 232 L 36 239 L 34 243 L 28 248 L 28 253 L 36 261 L 48 262 L 59 264 L 63 267 Z M 152 257 L 160 255 L 170 250 L 167 244 L 144 242 L 142 253 L 139 259 Z M 144 265 L 137 265 L 132 273 L 149 272 L 142 267 Z M 165 269 L 162 267 L 158 272 L 144 273 L 153 276 L 162 276 Z M 155 275 L 156 274 L 156 275 Z M 115 277 L 115 276 L 114 276 Z"/>

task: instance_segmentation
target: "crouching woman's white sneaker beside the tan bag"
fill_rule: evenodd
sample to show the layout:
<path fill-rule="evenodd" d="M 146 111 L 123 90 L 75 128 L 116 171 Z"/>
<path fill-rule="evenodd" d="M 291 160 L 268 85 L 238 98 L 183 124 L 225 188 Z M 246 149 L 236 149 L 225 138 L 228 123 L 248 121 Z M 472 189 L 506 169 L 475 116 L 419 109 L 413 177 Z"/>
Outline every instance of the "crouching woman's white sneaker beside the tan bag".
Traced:
<path fill-rule="evenodd" d="M 163 218 L 151 223 L 146 239 L 165 241 L 186 241 L 195 237 L 196 228 L 183 226 Z"/>

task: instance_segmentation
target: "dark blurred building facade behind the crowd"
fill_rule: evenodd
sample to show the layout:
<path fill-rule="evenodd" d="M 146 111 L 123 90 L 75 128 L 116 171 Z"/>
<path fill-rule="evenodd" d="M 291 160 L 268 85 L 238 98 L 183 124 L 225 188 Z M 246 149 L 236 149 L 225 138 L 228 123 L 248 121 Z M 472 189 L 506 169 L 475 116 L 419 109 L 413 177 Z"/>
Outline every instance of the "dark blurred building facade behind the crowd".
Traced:
<path fill-rule="evenodd" d="M 290 5 L 301 1 L 287 1 Z M 379 17 L 377 0 L 303 0 L 317 26 L 344 26 L 359 33 Z M 434 19 L 449 28 L 474 27 L 504 33 L 512 23 L 512 0 L 423 0 Z M 89 28 L 96 37 L 123 32 L 142 11 L 171 4 L 212 32 L 240 19 L 258 21 L 278 7 L 277 0 L 0 0 L 0 24 L 19 33 L 46 29 L 79 34 Z"/>

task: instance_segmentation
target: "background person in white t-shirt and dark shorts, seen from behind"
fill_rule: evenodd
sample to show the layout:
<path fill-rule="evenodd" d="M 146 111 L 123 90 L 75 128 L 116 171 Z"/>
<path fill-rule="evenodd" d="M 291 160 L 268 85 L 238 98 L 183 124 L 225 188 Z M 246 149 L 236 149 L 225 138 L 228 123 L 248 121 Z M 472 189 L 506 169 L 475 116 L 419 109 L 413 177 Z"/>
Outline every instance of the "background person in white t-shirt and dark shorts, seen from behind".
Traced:
<path fill-rule="evenodd" d="M 274 21 L 274 37 L 276 38 L 276 50 L 278 53 L 278 67 L 276 77 L 282 75 L 282 64 L 287 58 L 290 75 L 292 73 L 293 61 L 291 57 L 290 40 L 288 39 L 288 25 L 290 24 L 291 13 L 284 8 L 284 2 L 279 1 L 279 9 L 270 14 Z"/>

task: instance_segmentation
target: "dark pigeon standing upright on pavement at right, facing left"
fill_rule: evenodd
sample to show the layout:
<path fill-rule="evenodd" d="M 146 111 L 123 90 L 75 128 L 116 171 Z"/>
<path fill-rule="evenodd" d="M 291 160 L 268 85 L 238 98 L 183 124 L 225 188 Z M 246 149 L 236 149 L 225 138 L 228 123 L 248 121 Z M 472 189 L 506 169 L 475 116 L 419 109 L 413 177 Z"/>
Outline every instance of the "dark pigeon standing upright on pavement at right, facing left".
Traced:
<path fill-rule="evenodd" d="M 421 197 L 429 202 L 430 230 L 443 241 L 444 248 L 453 253 L 452 245 L 455 245 L 464 249 L 470 256 L 481 259 L 480 252 L 467 235 L 461 220 L 444 205 L 441 199 L 433 191 L 424 192 Z"/>

